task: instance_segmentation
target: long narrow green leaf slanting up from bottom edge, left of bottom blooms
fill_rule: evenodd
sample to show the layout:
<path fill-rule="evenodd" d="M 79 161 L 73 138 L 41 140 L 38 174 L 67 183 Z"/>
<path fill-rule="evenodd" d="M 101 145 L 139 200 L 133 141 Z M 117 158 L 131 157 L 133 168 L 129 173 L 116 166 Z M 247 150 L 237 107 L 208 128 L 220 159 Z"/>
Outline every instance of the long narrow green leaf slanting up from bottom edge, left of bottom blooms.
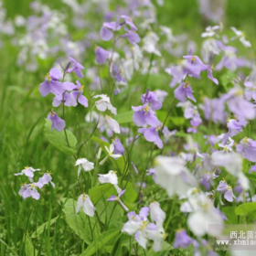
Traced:
<path fill-rule="evenodd" d="M 95 237 L 94 241 L 91 242 L 89 247 L 83 251 L 80 256 L 91 256 L 96 251 L 104 248 L 104 246 L 113 239 L 118 239 L 120 236 L 120 229 L 111 229 L 103 232 L 101 236 Z"/>

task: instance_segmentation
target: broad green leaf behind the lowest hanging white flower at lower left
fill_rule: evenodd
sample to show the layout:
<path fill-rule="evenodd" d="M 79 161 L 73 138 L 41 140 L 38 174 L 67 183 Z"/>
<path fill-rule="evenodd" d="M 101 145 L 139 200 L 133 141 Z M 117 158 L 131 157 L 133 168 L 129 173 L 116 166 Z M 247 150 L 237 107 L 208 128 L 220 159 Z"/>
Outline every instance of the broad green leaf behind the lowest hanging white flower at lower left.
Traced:
<path fill-rule="evenodd" d="M 65 214 L 66 222 L 69 225 L 69 228 L 72 229 L 81 240 L 84 240 L 87 244 L 92 242 L 91 229 L 89 221 L 91 221 L 91 225 L 94 224 L 94 219 L 88 217 L 84 212 L 76 213 L 77 202 L 71 198 L 67 200 L 64 198 L 65 205 L 62 210 Z M 97 229 L 94 229 L 95 234 L 97 234 Z"/>

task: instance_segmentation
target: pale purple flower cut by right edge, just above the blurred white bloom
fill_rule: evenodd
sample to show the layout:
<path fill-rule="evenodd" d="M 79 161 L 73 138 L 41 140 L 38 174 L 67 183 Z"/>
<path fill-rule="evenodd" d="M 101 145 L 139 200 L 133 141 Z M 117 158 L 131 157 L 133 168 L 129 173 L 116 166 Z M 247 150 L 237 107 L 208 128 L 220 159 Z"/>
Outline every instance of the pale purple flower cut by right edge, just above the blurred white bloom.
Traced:
<path fill-rule="evenodd" d="M 237 145 L 237 152 L 251 162 L 256 162 L 256 142 L 250 138 L 243 138 Z"/>

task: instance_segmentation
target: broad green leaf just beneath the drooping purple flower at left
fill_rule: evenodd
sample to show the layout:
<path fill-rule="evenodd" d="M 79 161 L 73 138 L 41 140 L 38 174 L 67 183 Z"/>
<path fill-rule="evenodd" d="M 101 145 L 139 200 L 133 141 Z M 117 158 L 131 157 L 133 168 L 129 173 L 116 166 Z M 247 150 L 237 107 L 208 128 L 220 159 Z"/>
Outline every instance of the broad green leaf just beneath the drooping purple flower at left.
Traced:
<path fill-rule="evenodd" d="M 69 132 L 68 130 L 66 130 L 66 132 L 69 140 L 69 145 L 67 144 L 64 131 L 58 132 L 54 129 L 51 131 L 51 122 L 46 119 L 45 135 L 48 139 L 48 142 L 57 147 L 63 153 L 67 155 L 74 155 L 76 153 L 77 138 L 73 133 Z"/>

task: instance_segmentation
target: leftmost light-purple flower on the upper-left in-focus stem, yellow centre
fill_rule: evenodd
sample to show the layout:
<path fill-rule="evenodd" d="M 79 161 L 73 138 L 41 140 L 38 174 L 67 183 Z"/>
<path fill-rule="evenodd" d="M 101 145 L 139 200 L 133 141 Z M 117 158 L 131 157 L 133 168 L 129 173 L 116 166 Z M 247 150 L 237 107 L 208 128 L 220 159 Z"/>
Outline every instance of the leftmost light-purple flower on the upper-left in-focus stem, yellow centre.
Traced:
<path fill-rule="evenodd" d="M 63 89 L 59 80 L 62 78 L 62 73 L 59 69 L 50 69 L 46 75 L 45 81 L 40 84 L 39 91 L 43 97 L 48 93 L 61 94 Z"/>

